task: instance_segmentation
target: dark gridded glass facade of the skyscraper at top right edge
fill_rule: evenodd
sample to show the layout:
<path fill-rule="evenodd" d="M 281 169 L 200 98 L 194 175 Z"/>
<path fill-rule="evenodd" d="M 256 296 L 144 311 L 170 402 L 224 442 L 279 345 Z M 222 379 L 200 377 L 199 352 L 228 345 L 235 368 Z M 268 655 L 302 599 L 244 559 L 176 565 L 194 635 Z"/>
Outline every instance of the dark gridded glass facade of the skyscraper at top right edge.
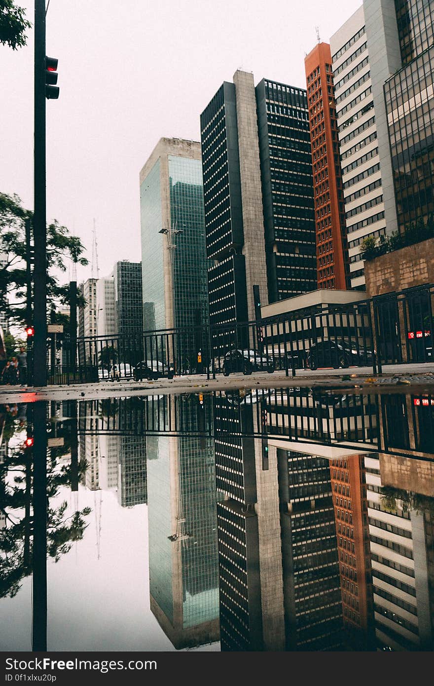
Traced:
<path fill-rule="evenodd" d="M 402 69 L 384 86 L 400 231 L 434 213 L 434 2 L 395 0 Z"/>

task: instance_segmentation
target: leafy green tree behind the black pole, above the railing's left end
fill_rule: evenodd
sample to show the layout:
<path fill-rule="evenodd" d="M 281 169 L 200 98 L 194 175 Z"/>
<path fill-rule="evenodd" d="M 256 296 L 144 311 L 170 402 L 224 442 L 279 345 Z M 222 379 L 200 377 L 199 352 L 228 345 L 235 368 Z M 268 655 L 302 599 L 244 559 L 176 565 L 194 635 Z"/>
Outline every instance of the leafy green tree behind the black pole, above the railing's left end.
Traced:
<path fill-rule="evenodd" d="M 0 303 L 12 324 L 26 323 L 25 223 L 32 219 L 32 212 L 23 208 L 18 196 L 0 193 L 0 252 L 5 255 L 5 263 L 0 267 Z M 47 302 L 51 305 L 69 304 L 69 287 L 60 285 L 53 272 L 66 272 L 67 259 L 87 265 L 83 253 L 82 241 L 71 236 L 66 226 L 56 220 L 47 226 Z M 79 296 L 77 305 L 84 304 L 84 298 Z"/>

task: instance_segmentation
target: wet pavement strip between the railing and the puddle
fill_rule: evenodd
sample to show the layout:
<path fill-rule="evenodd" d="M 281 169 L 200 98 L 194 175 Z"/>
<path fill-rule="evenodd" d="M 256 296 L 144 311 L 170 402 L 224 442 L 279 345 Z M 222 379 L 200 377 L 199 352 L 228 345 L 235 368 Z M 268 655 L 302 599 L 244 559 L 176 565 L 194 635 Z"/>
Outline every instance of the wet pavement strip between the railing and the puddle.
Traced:
<path fill-rule="evenodd" d="M 0 404 L 32 403 L 37 400 L 85 400 L 132 395 L 169 393 L 199 393 L 227 388 L 324 388 L 354 389 L 353 392 L 418 392 L 434 394 L 434 362 L 426 364 L 395 364 L 383 367 L 383 374 L 373 377 L 369 367 L 349 369 L 297 370 L 296 377 L 286 377 L 285 372 L 257 372 L 249 376 L 232 374 L 206 379 L 203 375 L 158 379 L 157 381 L 100 381 L 74 386 L 46 386 L 45 388 L 21 388 L 0 386 Z M 374 390 L 375 389 L 375 390 Z"/>

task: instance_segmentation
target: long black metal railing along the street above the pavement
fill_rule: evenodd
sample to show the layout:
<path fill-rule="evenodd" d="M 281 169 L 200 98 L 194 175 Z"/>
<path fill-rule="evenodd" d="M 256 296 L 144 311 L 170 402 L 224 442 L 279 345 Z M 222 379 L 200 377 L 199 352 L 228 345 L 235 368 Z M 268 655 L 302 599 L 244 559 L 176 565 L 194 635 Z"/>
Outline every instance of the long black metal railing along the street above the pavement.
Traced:
<path fill-rule="evenodd" d="M 348 367 L 381 373 L 385 364 L 433 359 L 433 298 L 434 285 L 426 285 L 255 322 L 78 338 L 76 351 L 61 357 L 76 365 L 50 365 L 49 383 Z"/>

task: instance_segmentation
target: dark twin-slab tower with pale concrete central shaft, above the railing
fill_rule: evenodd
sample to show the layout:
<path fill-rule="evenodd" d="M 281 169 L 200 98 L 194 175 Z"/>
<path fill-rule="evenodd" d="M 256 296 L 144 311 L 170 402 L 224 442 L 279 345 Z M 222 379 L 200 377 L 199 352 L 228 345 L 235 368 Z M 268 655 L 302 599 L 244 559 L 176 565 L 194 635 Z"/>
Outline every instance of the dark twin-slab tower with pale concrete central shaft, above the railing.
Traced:
<path fill-rule="evenodd" d="M 306 91 L 236 71 L 200 117 L 211 324 L 316 288 Z"/>

